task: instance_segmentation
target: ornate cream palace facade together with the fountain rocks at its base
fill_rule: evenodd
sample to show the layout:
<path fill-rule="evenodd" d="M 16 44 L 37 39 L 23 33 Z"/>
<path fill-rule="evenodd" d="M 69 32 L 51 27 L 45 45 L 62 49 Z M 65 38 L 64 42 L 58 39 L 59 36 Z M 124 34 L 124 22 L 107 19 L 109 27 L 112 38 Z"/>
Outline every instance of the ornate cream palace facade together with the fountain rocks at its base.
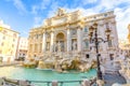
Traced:
<path fill-rule="evenodd" d="M 40 69 L 57 71 L 87 71 L 96 67 L 94 44 L 90 44 L 89 40 L 89 27 L 93 23 L 98 23 L 99 37 L 104 40 L 106 27 L 112 30 L 110 41 L 101 43 L 99 49 L 103 62 L 113 59 L 118 49 L 113 11 L 83 16 L 79 10 L 67 13 L 66 10 L 58 9 L 53 17 L 43 22 L 43 25 L 30 29 L 27 58 L 31 59 L 30 64 L 37 63 Z M 26 66 L 26 62 L 24 64 Z"/>

